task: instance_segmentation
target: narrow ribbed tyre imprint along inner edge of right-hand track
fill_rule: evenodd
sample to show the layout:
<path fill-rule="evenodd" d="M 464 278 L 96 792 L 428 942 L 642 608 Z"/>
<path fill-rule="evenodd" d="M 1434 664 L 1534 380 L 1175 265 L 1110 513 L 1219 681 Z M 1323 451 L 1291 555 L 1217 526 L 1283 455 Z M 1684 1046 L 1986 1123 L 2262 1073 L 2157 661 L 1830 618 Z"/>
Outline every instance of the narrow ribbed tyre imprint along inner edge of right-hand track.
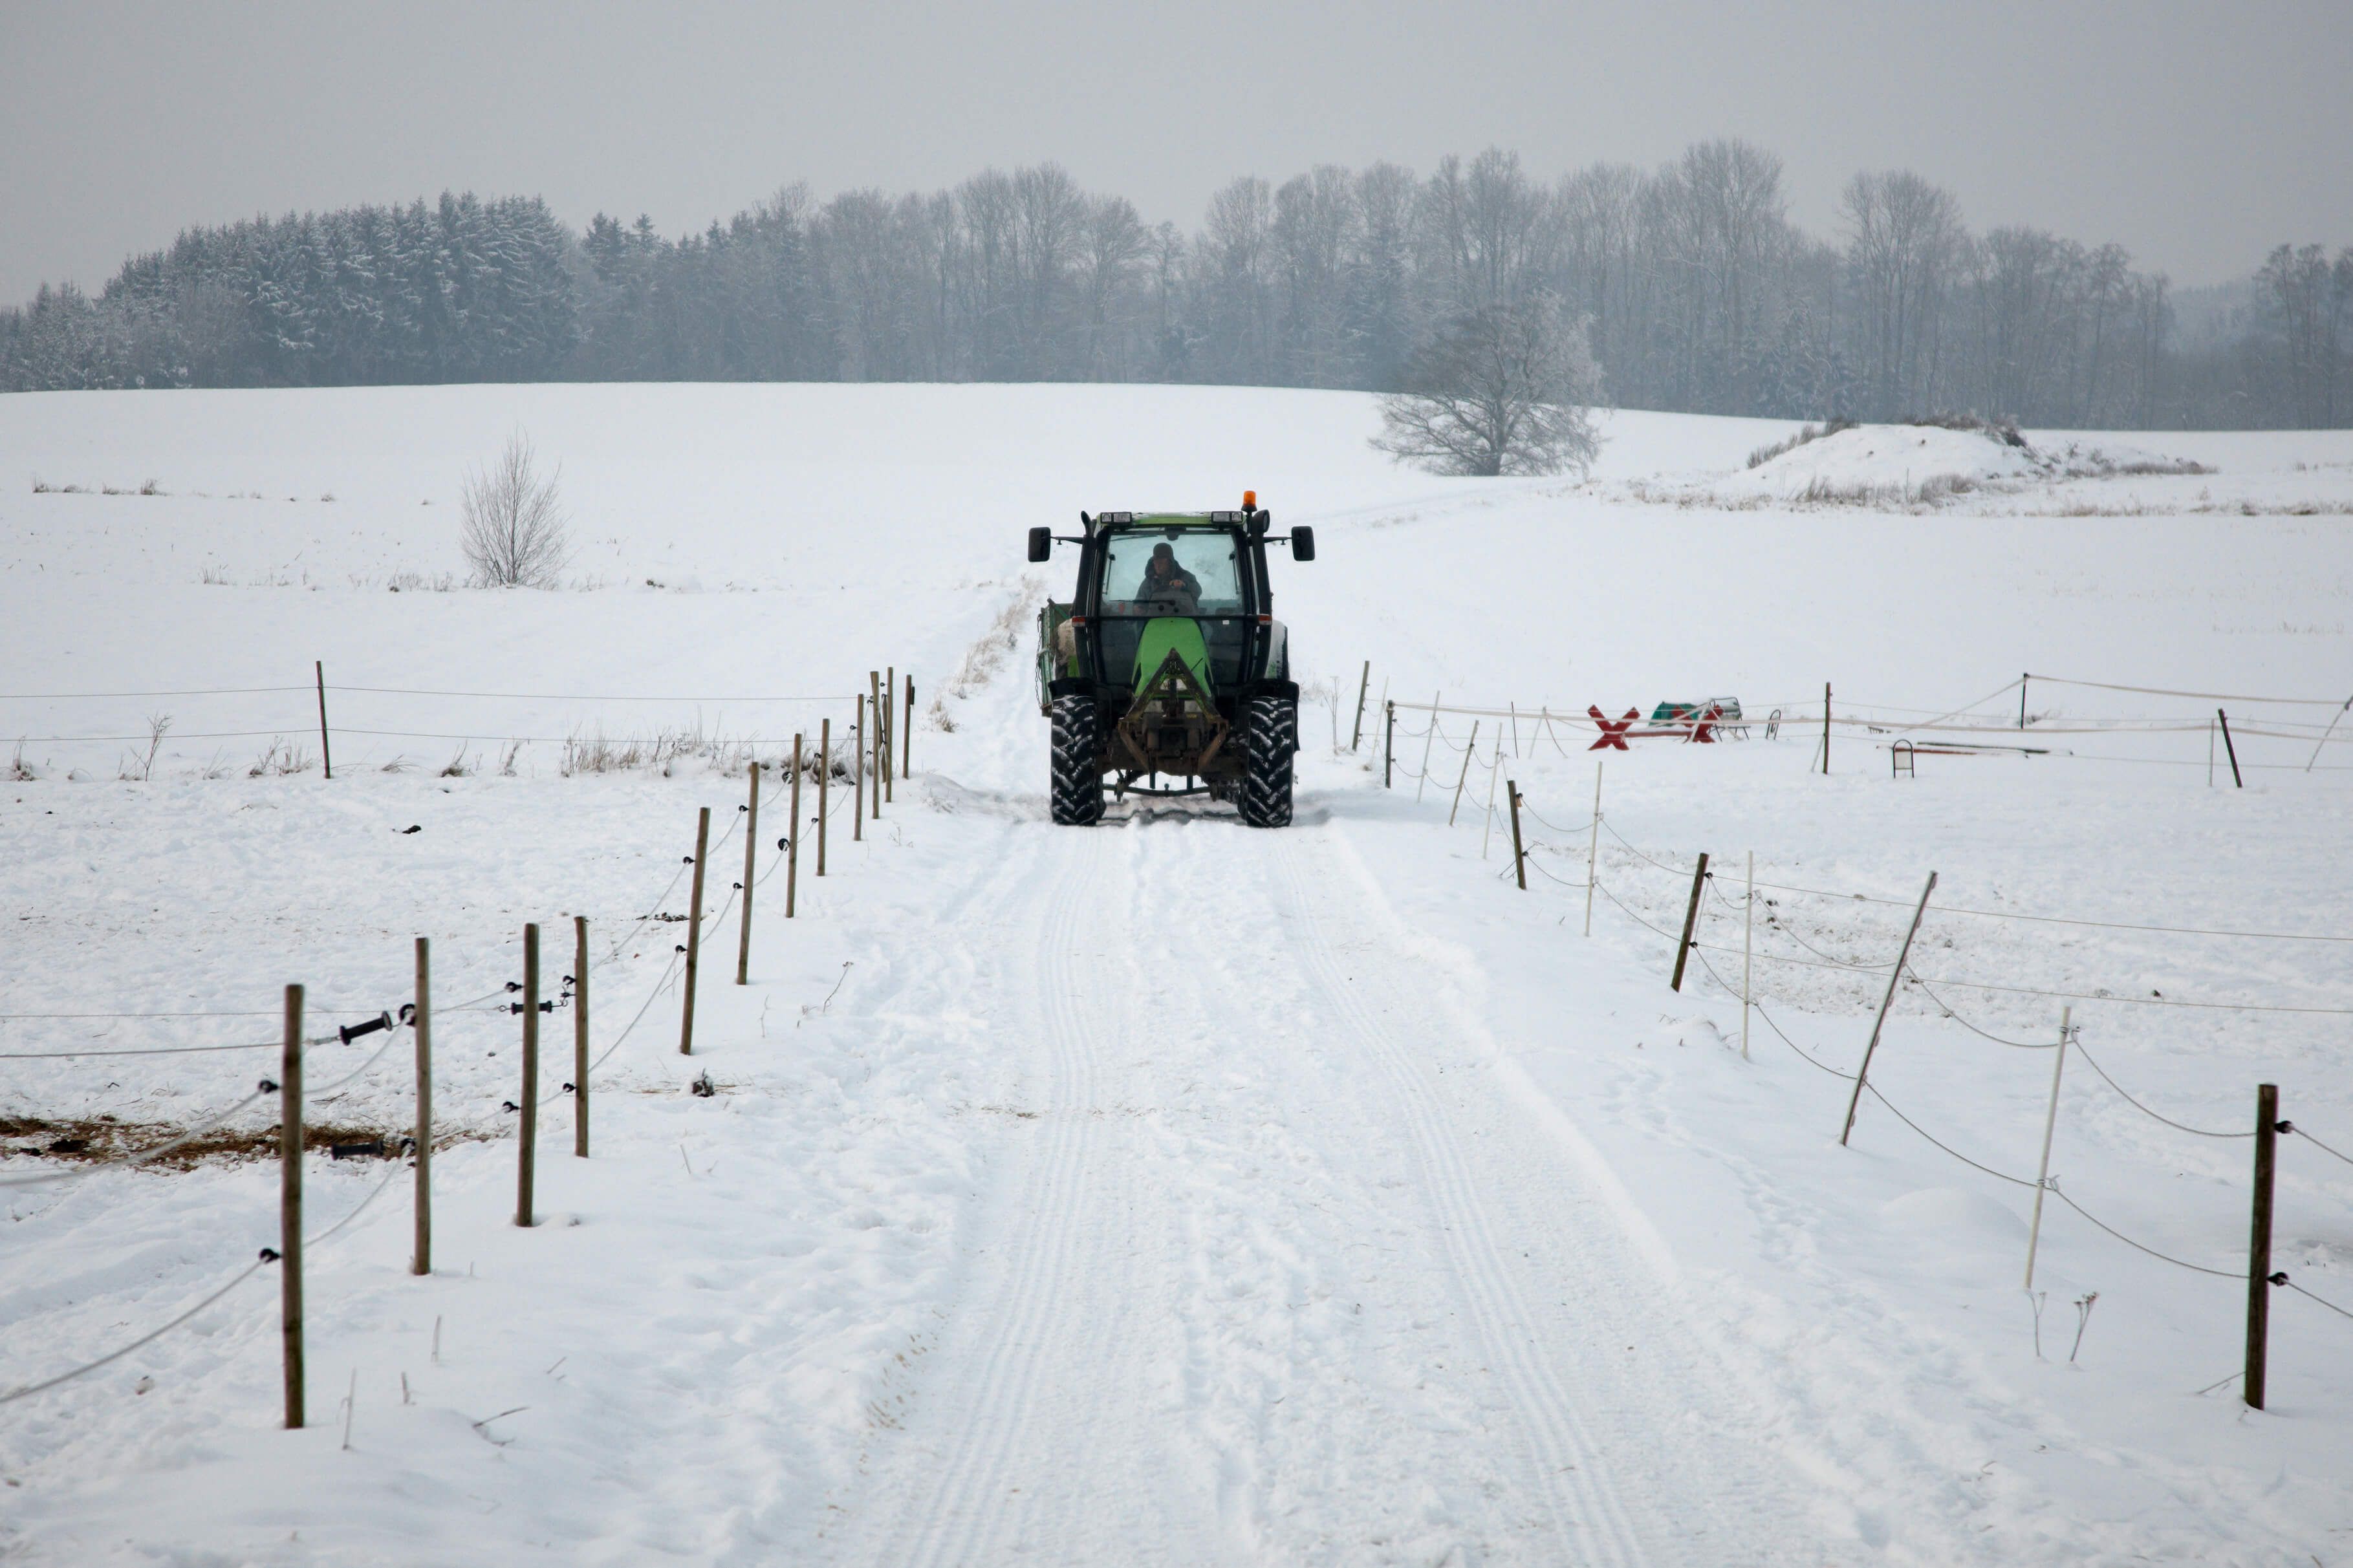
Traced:
<path fill-rule="evenodd" d="M 1628 1568 L 1647 1563 L 1633 1516 L 1605 1469 L 1600 1448 L 1584 1429 L 1560 1378 L 1534 1340 L 1534 1316 L 1504 1267 L 1478 1187 L 1447 1126 L 1445 1107 L 1391 1027 L 1365 1006 L 1360 985 L 1341 971 L 1327 936 L 1327 924 L 1337 922 L 1311 891 L 1311 875 L 1301 867 L 1297 842 L 1280 846 L 1280 863 L 1287 882 L 1285 903 L 1289 905 L 1285 929 L 1332 1001 L 1332 1011 L 1369 1046 L 1374 1063 L 1398 1095 L 1424 1171 L 1426 1197 L 1445 1229 L 1445 1253 L 1487 1352 L 1487 1363 L 1506 1382 L 1534 1448 L 1537 1483 L 1551 1505 L 1562 1547 L 1593 1563 L 1624 1563 Z M 1325 872 L 1318 879 L 1329 884 L 1332 875 Z"/>

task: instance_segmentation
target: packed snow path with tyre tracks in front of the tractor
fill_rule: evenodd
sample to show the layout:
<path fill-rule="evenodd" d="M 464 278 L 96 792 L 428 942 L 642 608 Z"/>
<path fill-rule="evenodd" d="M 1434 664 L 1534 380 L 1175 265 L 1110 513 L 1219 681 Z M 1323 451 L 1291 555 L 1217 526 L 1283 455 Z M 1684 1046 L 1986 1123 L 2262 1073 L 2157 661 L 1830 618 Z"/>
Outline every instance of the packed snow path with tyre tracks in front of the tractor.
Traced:
<path fill-rule="evenodd" d="M 828 1556 L 1814 1561 L 1344 832 L 1155 816 L 1019 830 L 960 900 L 1028 1135 Z"/>

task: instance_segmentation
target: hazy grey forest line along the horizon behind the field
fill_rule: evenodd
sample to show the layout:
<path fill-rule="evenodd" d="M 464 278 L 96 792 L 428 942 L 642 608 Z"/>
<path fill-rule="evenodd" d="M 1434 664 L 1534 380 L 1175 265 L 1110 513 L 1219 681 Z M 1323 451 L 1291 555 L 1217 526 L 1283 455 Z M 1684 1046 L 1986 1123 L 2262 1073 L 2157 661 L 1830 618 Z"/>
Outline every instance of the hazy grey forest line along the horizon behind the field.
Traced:
<path fill-rule="evenodd" d="M 953 190 L 772 200 L 671 240 L 536 197 L 191 228 L 96 294 L 0 310 L 0 388 L 416 381 L 1195 381 L 1398 390 L 1482 310 L 1553 296 L 1602 395 L 1781 418 L 2033 425 L 2353 421 L 2353 249 L 2278 247 L 2184 341 L 2118 244 L 1972 233 L 1911 172 L 1857 174 L 1835 237 L 1781 160 L 1706 141 L 1553 183 L 1515 153 L 1245 176 L 1200 228 L 1056 165 Z"/>

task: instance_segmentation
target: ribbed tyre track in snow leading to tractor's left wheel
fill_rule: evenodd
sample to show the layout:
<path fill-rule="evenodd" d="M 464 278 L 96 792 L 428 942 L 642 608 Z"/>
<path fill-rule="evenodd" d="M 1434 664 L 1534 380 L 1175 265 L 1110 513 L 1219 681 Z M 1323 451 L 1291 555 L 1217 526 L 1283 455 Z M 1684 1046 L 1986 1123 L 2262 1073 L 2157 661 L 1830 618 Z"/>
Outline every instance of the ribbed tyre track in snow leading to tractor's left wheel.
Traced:
<path fill-rule="evenodd" d="M 998 1018 L 1040 1084 L 1005 1145 L 1019 1173 L 981 1215 L 981 1246 L 927 1356 L 922 1406 L 880 1483 L 852 1505 L 838 1561 L 1214 1561 L 1191 1505 L 1155 1368 L 1167 1201 L 1106 1105 L 1134 980 L 1113 865 L 1136 842 L 1042 830 L 1007 846 L 1021 891 L 986 938 L 1016 980 Z M 1024 835 L 1028 837 L 1028 835 Z M 1134 877 L 1129 877 L 1134 882 Z M 1106 966 L 1106 957 L 1129 961 Z M 1042 1079 L 1042 1081 L 1040 1081 Z M 1035 1145 L 1024 1150 L 1028 1133 Z"/>

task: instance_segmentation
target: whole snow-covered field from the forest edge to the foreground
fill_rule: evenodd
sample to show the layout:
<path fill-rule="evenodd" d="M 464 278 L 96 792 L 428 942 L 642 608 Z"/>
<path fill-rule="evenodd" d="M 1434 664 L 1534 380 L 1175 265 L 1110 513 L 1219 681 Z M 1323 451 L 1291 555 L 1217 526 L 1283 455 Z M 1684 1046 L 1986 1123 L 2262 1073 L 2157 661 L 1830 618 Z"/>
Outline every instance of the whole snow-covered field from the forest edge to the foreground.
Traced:
<path fill-rule="evenodd" d="M 459 480 L 515 425 L 562 461 L 574 588 L 442 588 Z M 1205 388 L 0 400 L 9 1147 L 193 1126 L 275 1070 L 33 1053 L 268 1041 L 285 983 L 325 1023 L 398 1009 L 414 936 L 445 1004 L 504 999 L 520 926 L 560 976 L 586 914 L 598 1051 L 652 997 L 593 1079 L 595 1157 L 560 1093 L 541 1112 L 532 1229 L 501 1110 L 520 1025 L 442 1013 L 433 1274 L 407 1272 L 405 1168 L 306 1175 L 313 1232 L 376 1194 L 311 1248 L 311 1429 L 278 1427 L 264 1269 L 0 1403 L 0 1554 L 2344 1559 L 2353 1321 L 2273 1291 L 2271 1408 L 2247 1410 L 2249 1140 L 2177 1131 L 2101 1072 L 2207 1133 L 2245 1133 L 2273 1081 L 2353 1154 L 2353 724 L 2306 771 L 2353 691 L 2353 435 L 2028 433 L 2212 473 L 2005 468 L 1871 510 L 1788 496 L 1918 491 L 1892 442 L 1984 437 L 1857 430 L 1762 489 L 1746 456 L 1788 435 L 1767 421 L 1617 414 L 1586 482 L 1414 475 L 1372 428 L 1358 395 Z M 1245 484 L 1320 534 L 1275 576 L 1313 693 L 1299 825 L 1049 827 L 1026 607 L 1068 567 L 1026 567 L 1024 529 Z M 729 907 L 678 1056 L 682 926 L 640 917 L 685 912 L 694 809 L 727 835 L 720 910 L 746 750 L 840 733 L 885 665 L 918 682 L 913 778 L 864 839 L 835 795 L 791 922 L 769 792 L 751 985 Z M 1918 776 L 1892 776 L 1904 724 L 2014 724 L 2021 670 L 2045 755 L 1918 729 Z M 1824 682 L 1880 724 L 1840 726 L 1828 776 Z M 1426 738 L 1405 708 L 1384 790 L 1384 691 L 1482 710 L 1478 759 L 1471 715 Z M 1591 729 L 1529 717 L 1725 693 L 1748 738 L 1607 755 L 1598 837 Z M 2217 705 L 2242 790 L 2226 759 L 2209 783 Z M 656 733 L 696 741 L 565 769 L 567 738 Z M 289 748 L 304 771 L 252 773 Z M 1527 799 L 1525 893 L 1497 769 Z M 1675 994 L 1699 851 L 1718 877 Z M 1831 1072 L 1861 1060 L 1932 870 L 1925 985 L 1840 1147 Z M 2066 1201 L 2028 1298 L 2061 1006 Z M 379 1041 L 318 1046 L 311 1081 Z M 687 1093 L 704 1072 L 715 1093 Z M 315 1112 L 398 1131 L 409 1095 L 402 1034 Z M 271 1124 L 261 1100 L 231 1126 Z M 59 1171 L 87 1166 L 0 1159 L 28 1182 L 0 1190 L 0 1394 L 275 1244 L 273 1161 L 31 1180 Z M 2353 1307 L 2353 1166 L 2294 1133 L 2273 1267 Z"/>

